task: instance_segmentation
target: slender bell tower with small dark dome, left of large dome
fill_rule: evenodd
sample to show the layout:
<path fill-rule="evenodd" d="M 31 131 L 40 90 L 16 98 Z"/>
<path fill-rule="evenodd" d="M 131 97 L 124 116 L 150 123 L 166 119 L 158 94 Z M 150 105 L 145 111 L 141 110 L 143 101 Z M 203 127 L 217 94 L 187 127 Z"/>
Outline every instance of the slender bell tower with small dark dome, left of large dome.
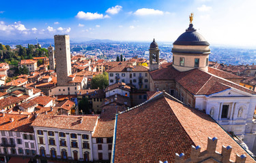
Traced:
<path fill-rule="evenodd" d="M 150 71 L 154 71 L 156 69 L 159 69 L 159 49 L 158 45 L 155 41 L 150 44 Z"/>

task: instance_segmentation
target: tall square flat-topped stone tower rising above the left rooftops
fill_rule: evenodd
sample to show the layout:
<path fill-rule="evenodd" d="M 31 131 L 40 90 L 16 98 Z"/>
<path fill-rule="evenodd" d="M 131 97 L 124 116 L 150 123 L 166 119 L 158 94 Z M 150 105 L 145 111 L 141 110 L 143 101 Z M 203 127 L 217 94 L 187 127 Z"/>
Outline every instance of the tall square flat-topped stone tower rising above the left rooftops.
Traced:
<path fill-rule="evenodd" d="M 70 57 L 70 36 L 55 35 L 55 56 L 57 86 L 70 86 L 72 81 L 71 57 Z"/>

